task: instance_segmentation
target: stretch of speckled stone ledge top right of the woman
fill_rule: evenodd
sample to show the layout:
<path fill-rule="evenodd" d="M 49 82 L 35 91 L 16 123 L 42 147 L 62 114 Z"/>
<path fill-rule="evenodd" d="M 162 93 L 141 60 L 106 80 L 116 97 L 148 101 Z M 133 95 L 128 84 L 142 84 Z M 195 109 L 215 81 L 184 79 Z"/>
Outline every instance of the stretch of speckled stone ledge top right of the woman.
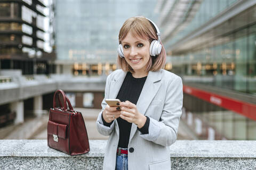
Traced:
<path fill-rule="evenodd" d="M 178 140 L 171 157 L 256 158 L 256 141 Z"/>

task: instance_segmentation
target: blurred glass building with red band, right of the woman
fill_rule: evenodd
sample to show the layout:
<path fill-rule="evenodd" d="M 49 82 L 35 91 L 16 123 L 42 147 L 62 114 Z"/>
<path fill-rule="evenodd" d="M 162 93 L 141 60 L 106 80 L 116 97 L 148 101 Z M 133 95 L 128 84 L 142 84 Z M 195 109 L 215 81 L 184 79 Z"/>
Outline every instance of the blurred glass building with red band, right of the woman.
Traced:
<path fill-rule="evenodd" d="M 186 87 L 181 120 L 201 140 L 256 140 L 256 3 L 194 2 L 193 19 L 163 38 Z"/>

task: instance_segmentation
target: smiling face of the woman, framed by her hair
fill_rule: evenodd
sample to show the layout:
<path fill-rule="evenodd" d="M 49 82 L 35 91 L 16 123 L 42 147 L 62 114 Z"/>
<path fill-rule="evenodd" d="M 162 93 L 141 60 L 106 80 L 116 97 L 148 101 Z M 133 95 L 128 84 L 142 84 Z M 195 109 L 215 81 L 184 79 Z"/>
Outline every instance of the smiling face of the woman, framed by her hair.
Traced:
<path fill-rule="evenodd" d="M 135 73 L 143 74 L 150 58 L 148 40 L 135 38 L 131 32 L 122 40 L 125 61 L 132 67 Z"/>

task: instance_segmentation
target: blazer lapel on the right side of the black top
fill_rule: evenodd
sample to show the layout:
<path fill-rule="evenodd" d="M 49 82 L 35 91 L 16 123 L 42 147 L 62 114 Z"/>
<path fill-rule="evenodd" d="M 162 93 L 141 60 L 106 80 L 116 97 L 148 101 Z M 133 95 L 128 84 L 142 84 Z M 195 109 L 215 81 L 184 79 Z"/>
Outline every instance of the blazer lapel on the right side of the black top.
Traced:
<path fill-rule="evenodd" d="M 160 86 L 161 86 L 161 72 L 149 71 L 148 77 L 142 88 L 140 97 L 137 101 L 137 109 L 141 114 L 145 115 L 149 104 L 155 97 Z M 132 124 L 129 142 L 133 138 L 133 135 L 135 134 L 136 130 L 137 130 L 137 125 Z"/>

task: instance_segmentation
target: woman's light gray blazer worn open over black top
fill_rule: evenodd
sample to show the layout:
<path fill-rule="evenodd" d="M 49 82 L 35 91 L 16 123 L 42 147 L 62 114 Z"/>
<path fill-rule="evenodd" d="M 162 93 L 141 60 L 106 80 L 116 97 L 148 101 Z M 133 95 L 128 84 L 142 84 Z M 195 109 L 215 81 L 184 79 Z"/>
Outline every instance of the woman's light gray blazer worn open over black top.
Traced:
<path fill-rule="evenodd" d="M 108 75 L 105 98 L 115 99 L 122 86 L 126 72 L 116 70 Z M 132 124 L 128 148 L 128 169 L 171 169 L 169 147 L 177 139 L 181 116 L 183 93 L 182 80 L 166 70 L 149 72 L 137 102 L 141 114 L 150 118 L 149 133 L 141 134 Z M 103 99 L 102 111 L 106 107 Z M 103 125 L 101 114 L 97 119 L 99 133 L 110 135 L 103 162 L 103 169 L 115 169 L 116 150 L 119 140 L 117 120 L 110 127 Z"/>

